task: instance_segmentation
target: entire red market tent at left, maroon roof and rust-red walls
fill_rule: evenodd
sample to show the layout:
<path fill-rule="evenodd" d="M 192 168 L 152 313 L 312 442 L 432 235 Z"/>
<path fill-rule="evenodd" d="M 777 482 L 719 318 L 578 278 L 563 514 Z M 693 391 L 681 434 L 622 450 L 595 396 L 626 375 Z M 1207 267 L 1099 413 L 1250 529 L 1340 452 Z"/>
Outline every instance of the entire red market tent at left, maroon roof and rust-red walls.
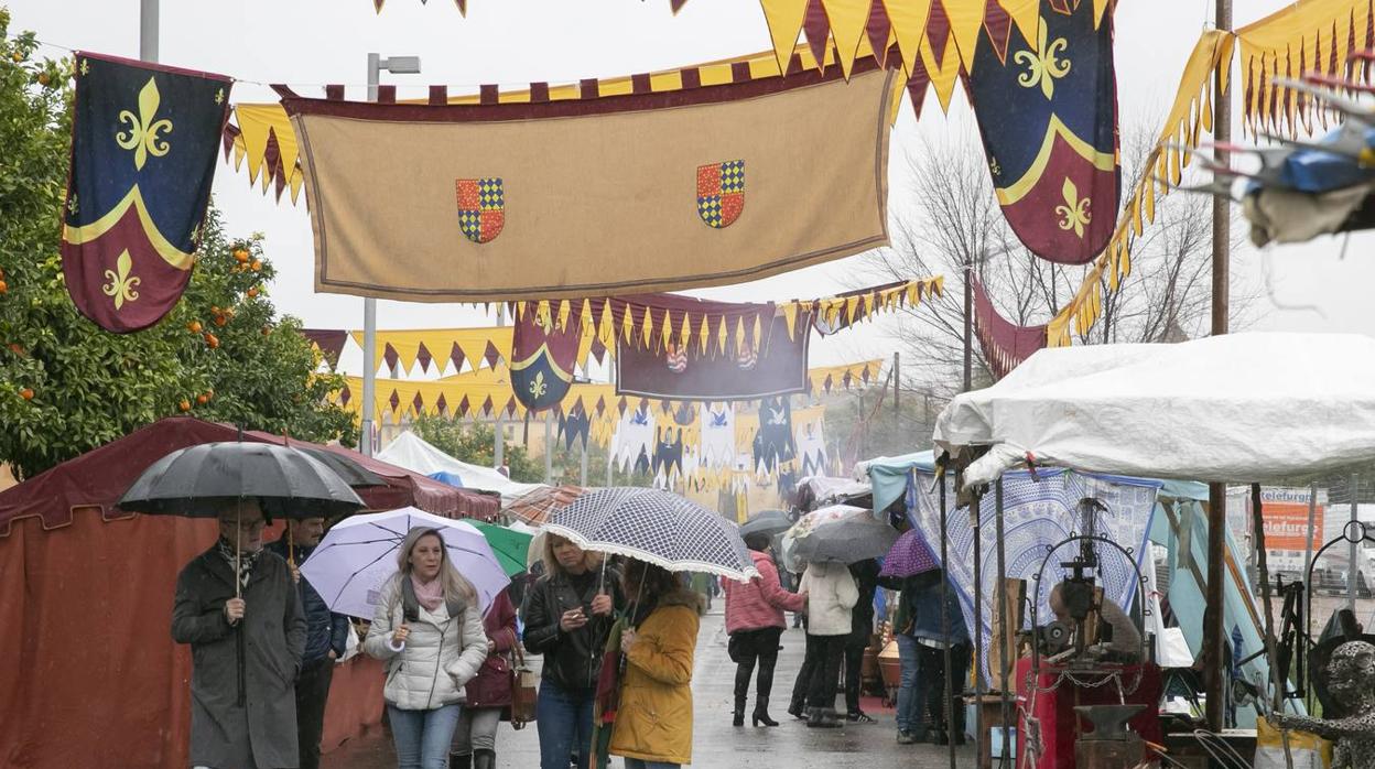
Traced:
<path fill-rule="evenodd" d="M 125 515 L 114 503 L 166 453 L 235 435 L 162 420 L 0 492 L 0 766 L 187 765 L 191 656 L 172 642 L 172 593 L 182 567 L 214 541 L 214 523 Z M 491 517 L 499 506 L 349 454 L 388 480 L 374 492 L 393 505 L 455 517 Z M 381 714 L 381 664 L 338 666 L 323 748 Z"/>

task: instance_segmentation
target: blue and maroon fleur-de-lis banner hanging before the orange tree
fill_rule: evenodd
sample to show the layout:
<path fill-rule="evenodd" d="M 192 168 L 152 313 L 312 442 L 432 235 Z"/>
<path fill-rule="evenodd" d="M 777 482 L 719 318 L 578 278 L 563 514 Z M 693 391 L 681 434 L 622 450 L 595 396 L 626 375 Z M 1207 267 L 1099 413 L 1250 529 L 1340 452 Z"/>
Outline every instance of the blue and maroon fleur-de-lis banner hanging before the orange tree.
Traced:
<path fill-rule="evenodd" d="M 78 52 L 62 271 L 110 332 L 170 311 L 195 264 L 231 80 Z"/>

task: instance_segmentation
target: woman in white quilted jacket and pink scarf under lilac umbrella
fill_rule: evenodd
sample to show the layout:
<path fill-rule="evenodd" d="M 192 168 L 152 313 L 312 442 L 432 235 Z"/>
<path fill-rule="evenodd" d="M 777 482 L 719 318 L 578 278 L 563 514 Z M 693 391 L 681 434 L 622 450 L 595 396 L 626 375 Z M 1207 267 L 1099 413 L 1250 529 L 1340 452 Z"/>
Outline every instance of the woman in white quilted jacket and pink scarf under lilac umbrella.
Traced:
<path fill-rule="evenodd" d="M 444 769 L 463 685 L 487 659 L 477 592 L 433 528 L 406 535 L 363 651 L 386 663 L 382 697 L 400 769 Z"/>

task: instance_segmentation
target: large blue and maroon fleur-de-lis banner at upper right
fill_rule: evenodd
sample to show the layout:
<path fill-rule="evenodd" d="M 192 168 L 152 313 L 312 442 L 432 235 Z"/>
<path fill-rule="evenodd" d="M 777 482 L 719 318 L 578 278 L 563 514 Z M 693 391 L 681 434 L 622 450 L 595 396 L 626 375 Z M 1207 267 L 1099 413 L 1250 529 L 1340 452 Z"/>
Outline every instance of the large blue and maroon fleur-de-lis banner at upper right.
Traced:
<path fill-rule="evenodd" d="M 1035 40 L 1009 19 L 986 23 L 968 74 L 1002 215 L 1027 249 L 1060 264 L 1107 246 L 1122 188 L 1112 7 L 1096 6 L 1042 0 Z"/>

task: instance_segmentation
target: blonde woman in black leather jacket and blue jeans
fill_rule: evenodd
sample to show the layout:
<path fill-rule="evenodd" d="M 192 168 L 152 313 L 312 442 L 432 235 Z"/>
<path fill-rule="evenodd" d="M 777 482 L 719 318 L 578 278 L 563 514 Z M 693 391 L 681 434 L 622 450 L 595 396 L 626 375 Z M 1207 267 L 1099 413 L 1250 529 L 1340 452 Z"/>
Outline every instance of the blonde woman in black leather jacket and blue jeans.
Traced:
<path fill-rule="evenodd" d="M 544 574 L 525 594 L 525 651 L 544 656 L 535 726 L 543 769 L 586 769 L 593 699 L 602 648 L 612 627 L 617 575 L 602 556 L 554 534 L 544 535 Z"/>

